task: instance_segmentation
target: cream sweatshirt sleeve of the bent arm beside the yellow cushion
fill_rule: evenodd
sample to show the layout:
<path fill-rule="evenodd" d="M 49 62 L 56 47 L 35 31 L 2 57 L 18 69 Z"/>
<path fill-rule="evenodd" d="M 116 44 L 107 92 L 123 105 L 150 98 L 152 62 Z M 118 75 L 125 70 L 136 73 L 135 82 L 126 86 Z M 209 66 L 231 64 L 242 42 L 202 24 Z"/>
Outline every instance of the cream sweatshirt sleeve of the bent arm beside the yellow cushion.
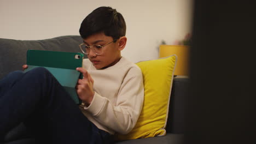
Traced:
<path fill-rule="evenodd" d="M 84 109 L 99 123 L 119 134 L 135 127 L 144 100 L 143 77 L 139 68 L 130 69 L 120 86 L 116 104 L 95 92 L 91 104 Z"/>

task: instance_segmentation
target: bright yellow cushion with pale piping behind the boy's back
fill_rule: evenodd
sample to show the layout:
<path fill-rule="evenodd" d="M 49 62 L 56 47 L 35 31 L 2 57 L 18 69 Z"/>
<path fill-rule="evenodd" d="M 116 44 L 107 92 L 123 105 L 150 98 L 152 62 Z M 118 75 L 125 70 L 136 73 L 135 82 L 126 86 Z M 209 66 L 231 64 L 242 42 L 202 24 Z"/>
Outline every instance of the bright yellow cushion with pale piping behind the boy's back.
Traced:
<path fill-rule="evenodd" d="M 166 134 L 168 106 L 177 57 L 138 62 L 144 82 L 144 104 L 135 127 L 117 140 L 131 140 Z"/>

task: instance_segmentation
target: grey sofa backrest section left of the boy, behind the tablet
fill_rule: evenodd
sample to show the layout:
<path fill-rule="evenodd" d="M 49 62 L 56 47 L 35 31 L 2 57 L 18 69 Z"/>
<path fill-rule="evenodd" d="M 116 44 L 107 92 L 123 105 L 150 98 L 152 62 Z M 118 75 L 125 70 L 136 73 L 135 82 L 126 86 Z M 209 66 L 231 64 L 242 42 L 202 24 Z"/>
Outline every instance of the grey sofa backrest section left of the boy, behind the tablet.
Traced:
<path fill-rule="evenodd" d="M 82 43 L 83 39 L 79 35 L 44 40 L 0 39 L 0 79 L 10 71 L 22 69 L 22 65 L 26 64 L 26 55 L 29 49 L 80 52 L 78 45 Z"/>

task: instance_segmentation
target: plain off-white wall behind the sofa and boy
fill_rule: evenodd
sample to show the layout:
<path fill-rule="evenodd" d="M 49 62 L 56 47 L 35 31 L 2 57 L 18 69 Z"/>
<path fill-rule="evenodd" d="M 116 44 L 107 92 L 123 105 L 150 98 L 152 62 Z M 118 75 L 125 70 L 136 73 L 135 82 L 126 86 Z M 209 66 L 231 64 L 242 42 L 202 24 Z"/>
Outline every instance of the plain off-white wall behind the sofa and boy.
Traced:
<path fill-rule="evenodd" d="M 0 0 L 0 38 L 38 40 L 79 35 L 80 23 L 100 6 L 125 18 L 132 62 L 158 58 L 162 40 L 173 44 L 191 33 L 192 0 Z"/>

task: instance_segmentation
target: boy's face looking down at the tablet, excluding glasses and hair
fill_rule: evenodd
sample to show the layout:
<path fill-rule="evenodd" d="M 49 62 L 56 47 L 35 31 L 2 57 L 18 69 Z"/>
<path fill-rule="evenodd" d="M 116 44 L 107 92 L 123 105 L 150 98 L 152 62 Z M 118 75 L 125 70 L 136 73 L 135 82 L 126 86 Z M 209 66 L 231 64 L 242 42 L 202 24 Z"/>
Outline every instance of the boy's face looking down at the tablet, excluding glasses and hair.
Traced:
<path fill-rule="evenodd" d="M 88 38 L 84 39 L 84 43 L 88 46 L 92 45 L 106 45 L 113 41 L 112 37 L 106 36 L 103 32 L 90 35 Z M 88 58 L 94 64 L 96 69 L 104 69 L 116 64 L 121 57 L 121 50 L 124 48 L 120 48 L 120 39 L 118 39 L 115 43 L 110 43 L 104 46 L 103 53 L 101 55 L 96 55 L 94 51 L 90 48 L 88 53 Z M 126 41 L 125 41 L 126 42 Z"/>

